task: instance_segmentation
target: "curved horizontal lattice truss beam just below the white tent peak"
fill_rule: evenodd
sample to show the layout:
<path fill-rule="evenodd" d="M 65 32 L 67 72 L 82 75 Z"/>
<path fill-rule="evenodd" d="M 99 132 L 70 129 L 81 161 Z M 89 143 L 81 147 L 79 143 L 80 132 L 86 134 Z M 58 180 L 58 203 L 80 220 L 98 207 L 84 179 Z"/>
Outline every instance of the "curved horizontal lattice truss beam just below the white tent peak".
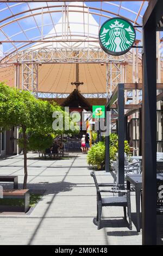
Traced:
<path fill-rule="evenodd" d="M 78 52 L 78 54 L 75 54 Z M 118 64 L 128 63 L 131 65 L 132 60 L 130 54 L 124 56 L 110 56 L 99 48 L 48 48 L 40 47 L 37 50 L 24 50 L 15 52 L 10 57 L 4 58 L 1 64 L 57 64 L 57 63 L 112 63 L 112 68 L 109 74 L 113 76 L 114 84 L 117 84 L 118 77 L 121 74 Z"/>

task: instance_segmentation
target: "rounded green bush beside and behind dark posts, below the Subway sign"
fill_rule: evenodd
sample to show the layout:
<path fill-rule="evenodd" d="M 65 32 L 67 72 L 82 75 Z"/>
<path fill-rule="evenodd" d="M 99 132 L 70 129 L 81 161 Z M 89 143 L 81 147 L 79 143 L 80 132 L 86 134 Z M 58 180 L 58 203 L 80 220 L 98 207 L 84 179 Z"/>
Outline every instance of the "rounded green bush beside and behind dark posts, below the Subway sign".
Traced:
<path fill-rule="evenodd" d="M 118 136 L 115 133 L 110 133 L 110 160 L 116 160 L 116 153 L 118 152 Z M 130 153 L 130 147 L 128 141 L 124 141 L 124 151 L 128 155 Z M 97 169 L 101 169 L 105 163 L 105 144 L 104 142 L 98 142 L 92 146 L 87 153 L 87 163 L 91 164 Z"/>

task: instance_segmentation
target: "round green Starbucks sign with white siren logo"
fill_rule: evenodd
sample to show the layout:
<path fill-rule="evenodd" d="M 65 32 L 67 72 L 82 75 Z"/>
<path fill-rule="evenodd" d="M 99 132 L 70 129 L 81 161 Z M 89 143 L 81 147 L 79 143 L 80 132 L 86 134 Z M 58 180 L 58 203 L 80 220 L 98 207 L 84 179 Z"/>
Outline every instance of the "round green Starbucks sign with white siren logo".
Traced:
<path fill-rule="evenodd" d="M 122 55 L 130 50 L 135 41 L 133 25 L 119 17 L 109 19 L 99 30 L 99 44 L 111 55 Z"/>

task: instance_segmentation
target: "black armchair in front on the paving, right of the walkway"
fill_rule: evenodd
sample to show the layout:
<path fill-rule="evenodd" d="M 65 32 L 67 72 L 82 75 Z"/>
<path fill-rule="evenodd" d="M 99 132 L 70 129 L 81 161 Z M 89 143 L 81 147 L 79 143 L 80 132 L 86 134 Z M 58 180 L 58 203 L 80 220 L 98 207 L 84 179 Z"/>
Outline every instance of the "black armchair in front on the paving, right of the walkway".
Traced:
<path fill-rule="evenodd" d="M 98 225 L 98 229 L 100 229 L 101 224 L 101 214 L 102 214 L 102 207 L 103 206 L 123 206 L 124 211 L 124 220 L 127 221 L 126 215 L 126 207 L 128 209 L 128 217 L 129 217 L 129 229 L 132 229 L 132 222 L 131 222 L 131 203 L 130 203 L 130 191 L 129 190 L 121 190 L 121 185 L 114 184 L 98 184 L 95 172 L 91 172 L 91 176 L 93 177 L 96 185 L 97 190 L 97 217 L 96 223 Z M 111 190 L 99 190 L 99 187 L 111 187 Z M 101 192 L 109 192 L 109 193 L 117 193 L 120 194 L 119 196 L 114 197 L 103 197 L 101 196 Z"/>

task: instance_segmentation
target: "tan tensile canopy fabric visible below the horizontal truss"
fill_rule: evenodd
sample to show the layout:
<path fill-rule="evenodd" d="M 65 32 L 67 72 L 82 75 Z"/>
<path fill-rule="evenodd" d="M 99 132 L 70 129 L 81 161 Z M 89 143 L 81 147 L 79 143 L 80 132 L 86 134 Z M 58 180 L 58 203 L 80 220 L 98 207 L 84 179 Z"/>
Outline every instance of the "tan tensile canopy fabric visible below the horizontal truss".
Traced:
<path fill-rule="evenodd" d="M 132 66 L 127 65 L 127 83 L 133 82 Z M 14 66 L 0 69 L 0 80 L 14 87 Z M 139 68 L 141 79 L 141 66 Z M 39 92 L 71 93 L 76 81 L 76 64 L 42 64 L 39 66 Z M 81 93 L 106 93 L 106 65 L 79 64 L 79 81 Z M 21 87 L 21 74 L 20 74 Z"/>

